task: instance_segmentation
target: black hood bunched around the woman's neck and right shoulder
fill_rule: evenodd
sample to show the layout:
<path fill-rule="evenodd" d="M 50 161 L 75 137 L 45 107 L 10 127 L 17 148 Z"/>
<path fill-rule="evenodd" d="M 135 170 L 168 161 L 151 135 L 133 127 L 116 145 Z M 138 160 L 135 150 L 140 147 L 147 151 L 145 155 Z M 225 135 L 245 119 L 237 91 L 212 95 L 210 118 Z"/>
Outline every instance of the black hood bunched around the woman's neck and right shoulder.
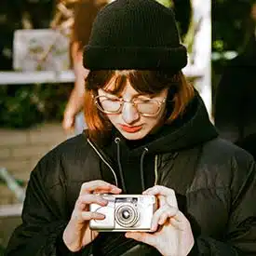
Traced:
<path fill-rule="evenodd" d="M 119 138 L 120 144 L 126 144 L 132 155 L 141 155 L 145 148 L 151 154 L 178 152 L 217 136 L 218 133 L 209 121 L 207 109 L 198 92 L 180 118 L 164 125 L 154 135 L 148 135 L 140 141 L 127 141 L 115 130 L 115 140 Z"/>

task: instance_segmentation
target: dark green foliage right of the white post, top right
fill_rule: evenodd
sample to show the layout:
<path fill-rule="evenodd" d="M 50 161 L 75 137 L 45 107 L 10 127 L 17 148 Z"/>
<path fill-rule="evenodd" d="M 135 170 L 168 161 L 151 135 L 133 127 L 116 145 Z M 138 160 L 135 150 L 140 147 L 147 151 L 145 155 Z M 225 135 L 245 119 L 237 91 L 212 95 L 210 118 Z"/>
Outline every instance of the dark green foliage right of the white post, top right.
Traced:
<path fill-rule="evenodd" d="M 247 45 L 252 32 L 250 7 L 255 0 L 211 0 L 212 51 L 221 58 L 212 59 L 212 92 L 222 76 L 223 69 L 232 58 L 227 51 L 240 53 Z"/>

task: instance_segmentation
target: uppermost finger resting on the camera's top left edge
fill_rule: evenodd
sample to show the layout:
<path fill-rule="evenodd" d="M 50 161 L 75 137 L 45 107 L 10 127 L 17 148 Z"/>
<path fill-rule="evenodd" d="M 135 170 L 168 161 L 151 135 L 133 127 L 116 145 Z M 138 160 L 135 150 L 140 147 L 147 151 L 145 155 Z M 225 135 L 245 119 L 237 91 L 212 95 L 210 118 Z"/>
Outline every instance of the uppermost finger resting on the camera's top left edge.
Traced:
<path fill-rule="evenodd" d="M 104 193 L 119 194 L 121 189 L 108 182 L 97 180 L 83 183 L 81 186 L 80 195 L 90 194 L 94 191 L 104 191 Z"/>

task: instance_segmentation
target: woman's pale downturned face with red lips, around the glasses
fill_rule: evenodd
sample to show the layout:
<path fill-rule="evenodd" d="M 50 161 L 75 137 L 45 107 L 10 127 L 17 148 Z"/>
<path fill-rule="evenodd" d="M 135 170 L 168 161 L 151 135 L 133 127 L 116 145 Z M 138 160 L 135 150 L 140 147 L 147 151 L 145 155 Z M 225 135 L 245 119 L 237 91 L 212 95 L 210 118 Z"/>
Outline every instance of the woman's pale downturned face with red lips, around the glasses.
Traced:
<path fill-rule="evenodd" d="M 108 89 L 111 88 L 111 84 L 108 85 Z M 116 99 L 117 95 L 111 94 L 104 89 L 98 90 L 99 96 L 114 97 Z M 119 99 L 123 99 L 123 105 L 118 114 L 106 114 L 111 121 L 111 123 L 117 128 L 120 133 L 128 140 L 140 140 L 144 138 L 147 134 L 151 133 L 154 128 L 160 125 L 163 121 L 166 102 L 161 104 L 160 110 L 157 115 L 154 116 L 144 116 L 138 111 L 136 106 L 130 101 L 147 101 L 149 99 L 155 101 L 164 101 L 168 95 L 168 88 L 163 89 L 160 93 L 152 95 L 145 95 L 138 93 L 134 88 L 131 87 L 130 83 L 127 82 L 126 87 L 119 95 Z M 103 102 L 101 102 L 103 106 Z M 146 111 L 149 109 L 146 108 Z"/>

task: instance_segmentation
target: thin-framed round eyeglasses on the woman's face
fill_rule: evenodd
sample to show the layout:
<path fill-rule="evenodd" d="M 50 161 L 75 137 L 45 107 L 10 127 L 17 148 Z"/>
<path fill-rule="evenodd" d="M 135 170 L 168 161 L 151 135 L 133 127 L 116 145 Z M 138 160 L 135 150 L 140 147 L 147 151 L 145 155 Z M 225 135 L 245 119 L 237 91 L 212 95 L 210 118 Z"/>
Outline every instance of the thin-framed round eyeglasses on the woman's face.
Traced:
<path fill-rule="evenodd" d="M 155 116 L 160 113 L 162 104 L 166 102 L 166 98 L 161 101 L 156 99 L 141 100 L 140 98 L 125 101 L 124 99 L 115 97 L 97 96 L 94 100 L 97 108 L 105 114 L 119 114 L 125 102 L 131 103 L 143 116 Z"/>

